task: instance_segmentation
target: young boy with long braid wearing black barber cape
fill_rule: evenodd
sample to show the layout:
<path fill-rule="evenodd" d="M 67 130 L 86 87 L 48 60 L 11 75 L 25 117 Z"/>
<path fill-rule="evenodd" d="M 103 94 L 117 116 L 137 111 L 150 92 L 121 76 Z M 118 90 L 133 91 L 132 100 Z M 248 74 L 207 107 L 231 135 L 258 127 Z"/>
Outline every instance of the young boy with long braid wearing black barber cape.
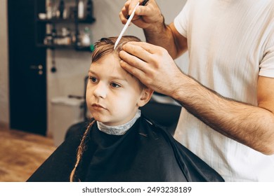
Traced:
<path fill-rule="evenodd" d="M 93 120 L 72 134 L 28 181 L 223 181 L 214 169 L 141 116 L 152 90 L 119 65 L 134 36 L 96 43 L 86 87 Z"/>

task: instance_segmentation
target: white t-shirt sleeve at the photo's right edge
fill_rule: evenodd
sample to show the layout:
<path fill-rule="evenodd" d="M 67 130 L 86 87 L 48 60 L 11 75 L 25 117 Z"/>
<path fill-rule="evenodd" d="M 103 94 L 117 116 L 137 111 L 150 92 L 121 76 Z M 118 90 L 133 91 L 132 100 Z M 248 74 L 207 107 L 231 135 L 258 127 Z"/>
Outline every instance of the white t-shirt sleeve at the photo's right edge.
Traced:
<path fill-rule="evenodd" d="M 259 76 L 274 78 L 274 29 L 263 52 Z"/>

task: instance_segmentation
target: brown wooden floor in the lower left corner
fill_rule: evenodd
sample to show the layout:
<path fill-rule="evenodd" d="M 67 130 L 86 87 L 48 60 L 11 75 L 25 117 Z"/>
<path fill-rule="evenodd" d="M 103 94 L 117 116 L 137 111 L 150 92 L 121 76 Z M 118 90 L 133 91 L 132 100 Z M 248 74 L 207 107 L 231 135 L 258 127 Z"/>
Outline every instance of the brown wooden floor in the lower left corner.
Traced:
<path fill-rule="evenodd" d="M 0 126 L 0 182 L 25 182 L 55 149 L 53 139 Z"/>

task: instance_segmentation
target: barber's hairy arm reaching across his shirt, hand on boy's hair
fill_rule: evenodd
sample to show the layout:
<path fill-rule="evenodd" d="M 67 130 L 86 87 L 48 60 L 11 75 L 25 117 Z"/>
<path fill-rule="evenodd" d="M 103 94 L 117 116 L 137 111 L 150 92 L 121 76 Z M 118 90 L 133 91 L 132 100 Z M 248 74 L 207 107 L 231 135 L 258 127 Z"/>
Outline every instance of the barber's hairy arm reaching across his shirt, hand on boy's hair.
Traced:
<path fill-rule="evenodd" d="M 190 113 L 231 139 L 274 154 L 274 78 L 259 76 L 258 106 L 236 102 L 182 73 L 169 52 L 150 43 L 129 42 L 121 66 L 153 90 L 173 97 Z"/>

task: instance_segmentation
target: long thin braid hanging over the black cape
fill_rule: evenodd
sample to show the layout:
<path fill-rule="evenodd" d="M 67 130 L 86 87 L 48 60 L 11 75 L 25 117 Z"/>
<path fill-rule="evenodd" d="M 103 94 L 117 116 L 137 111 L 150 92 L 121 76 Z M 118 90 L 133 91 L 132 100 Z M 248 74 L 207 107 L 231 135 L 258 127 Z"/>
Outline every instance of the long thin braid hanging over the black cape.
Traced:
<path fill-rule="evenodd" d="M 76 163 L 74 165 L 74 168 L 72 169 L 72 172 L 70 173 L 70 182 L 73 182 L 74 180 L 74 175 L 75 175 L 75 171 L 77 169 L 77 166 L 79 165 L 79 162 L 81 162 L 81 158 L 82 155 L 84 153 L 84 150 L 86 148 L 86 137 L 89 134 L 89 130 L 91 129 L 92 125 L 96 122 L 96 120 L 91 121 L 91 123 L 89 123 L 89 126 L 86 128 L 86 131 L 84 132 L 83 137 L 81 138 L 81 143 L 78 146 L 78 150 L 77 150 L 77 160 Z M 79 179 L 78 179 L 79 180 Z"/>

